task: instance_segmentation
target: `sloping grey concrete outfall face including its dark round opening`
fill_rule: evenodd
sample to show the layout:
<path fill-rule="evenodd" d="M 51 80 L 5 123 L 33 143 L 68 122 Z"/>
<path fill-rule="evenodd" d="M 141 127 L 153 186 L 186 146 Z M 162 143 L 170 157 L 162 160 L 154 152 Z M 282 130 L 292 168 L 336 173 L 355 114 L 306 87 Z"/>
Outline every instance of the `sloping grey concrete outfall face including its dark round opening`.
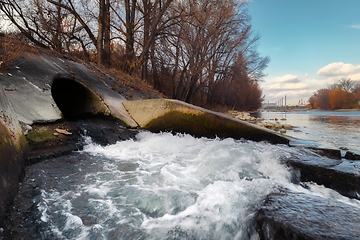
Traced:
<path fill-rule="evenodd" d="M 105 74 L 100 77 L 100 74 L 99 70 L 89 69 L 66 58 L 25 53 L 13 67 L 0 73 L 0 84 L 19 121 L 26 124 L 54 122 L 62 118 L 63 110 L 64 115 L 70 117 L 92 112 L 106 115 L 110 112 L 127 125 L 137 127 L 121 104 L 126 101 L 125 97 L 110 86 L 115 80 Z M 53 84 L 55 91 L 51 91 Z M 85 96 L 86 100 L 80 96 Z M 57 103 L 61 105 L 61 110 Z M 74 106 L 71 107 L 71 104 Z M 85 109 L 79 110 L 82 107 Z"/>

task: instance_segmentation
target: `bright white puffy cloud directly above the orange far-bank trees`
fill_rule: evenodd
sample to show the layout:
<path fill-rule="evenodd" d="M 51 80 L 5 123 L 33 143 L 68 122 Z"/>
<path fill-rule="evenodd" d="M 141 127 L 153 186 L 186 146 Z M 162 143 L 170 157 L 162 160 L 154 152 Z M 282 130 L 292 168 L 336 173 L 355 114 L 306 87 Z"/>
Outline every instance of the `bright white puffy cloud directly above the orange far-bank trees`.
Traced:
<path fill-rule="evenodd" d="M 343 62 L 330 63 L 317 71 L 318 75 L 326 77 L 346 76 L 355 73 L 360 73 L 360 64 L 354 65 Z"/>

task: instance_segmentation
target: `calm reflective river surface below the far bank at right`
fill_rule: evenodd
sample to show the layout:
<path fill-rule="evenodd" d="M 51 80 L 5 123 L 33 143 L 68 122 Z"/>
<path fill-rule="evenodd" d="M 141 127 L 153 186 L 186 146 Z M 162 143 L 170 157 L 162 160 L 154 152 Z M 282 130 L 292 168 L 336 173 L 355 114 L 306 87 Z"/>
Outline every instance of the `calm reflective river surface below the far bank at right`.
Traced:
<path fill-rule="evenodd" d="M 265 121 L 288 123 L 296 126 L 287 134 L 296 138 L 316 141 L 321 147 L 346 147 L 360 152 L 360 112 L 261 112 Z"/>

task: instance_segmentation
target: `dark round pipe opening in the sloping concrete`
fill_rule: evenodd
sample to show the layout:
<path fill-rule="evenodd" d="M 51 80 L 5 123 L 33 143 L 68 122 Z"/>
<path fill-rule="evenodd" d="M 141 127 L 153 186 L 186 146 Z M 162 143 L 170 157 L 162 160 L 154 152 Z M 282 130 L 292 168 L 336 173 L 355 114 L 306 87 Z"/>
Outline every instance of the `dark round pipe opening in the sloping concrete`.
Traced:
<path fill-rule="evenodd" d="M 110 113 L 98 94 L 69 74 L 58 74 L 54 77 L 51 94 L 65 119 Z"/>

